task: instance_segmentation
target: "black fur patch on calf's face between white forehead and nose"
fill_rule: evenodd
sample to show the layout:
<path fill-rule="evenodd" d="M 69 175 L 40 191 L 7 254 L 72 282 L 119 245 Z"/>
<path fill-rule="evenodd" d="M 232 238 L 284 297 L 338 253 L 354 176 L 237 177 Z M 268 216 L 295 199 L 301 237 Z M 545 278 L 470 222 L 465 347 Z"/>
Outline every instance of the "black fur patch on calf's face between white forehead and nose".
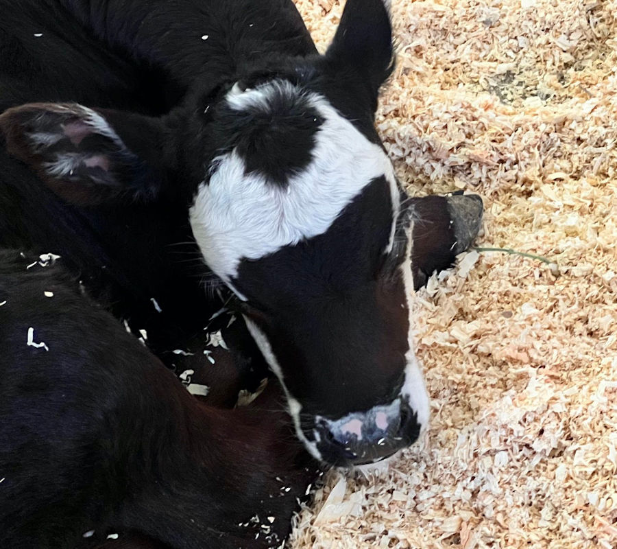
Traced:
<path fill-rule="evenodd" d="M 374 388 L 389 387 L 394 393 L 400 383 L 409 318 L 396 299 L 402 295 L 404 301 L 402 280 L 380 272 L 392 213 L 385 189 L 385 178 L 374 180 L 326 233 L 243 261 L 234 281 L 240 292 L 254 296 L 246 314 L 267 334 L 280 362 L 295 365 L 285 382 L 306 414 L 336 419 L 350 409 L 385 404 L 394 395 L 376 395 Z M 367 227 L 364 240 L 349 242 L 346 235 L 358 225 Z M 280 273 L 276 293 L 266 282 L 268 272 Z M 319 373 L 311 364 L 320 365 Z M 336 399 L 333 386 L 345 387 Z M 304 427 L 312 437 L 314 425 Z"/>

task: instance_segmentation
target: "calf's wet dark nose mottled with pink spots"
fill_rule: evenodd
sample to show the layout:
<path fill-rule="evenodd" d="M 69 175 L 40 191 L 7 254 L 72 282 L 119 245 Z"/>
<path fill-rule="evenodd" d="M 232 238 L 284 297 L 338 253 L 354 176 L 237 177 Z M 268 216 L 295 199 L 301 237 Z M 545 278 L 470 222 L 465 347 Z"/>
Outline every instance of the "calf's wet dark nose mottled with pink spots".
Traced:
<path fill-rule="evenodd" d="M 337 420 L 317 416 L 311 439 L 315 439 L 324 461 L 350 467 L 391 456 L 414 443 L 420 430 L 415 412 L 406 401 L 396 399 Z"/>

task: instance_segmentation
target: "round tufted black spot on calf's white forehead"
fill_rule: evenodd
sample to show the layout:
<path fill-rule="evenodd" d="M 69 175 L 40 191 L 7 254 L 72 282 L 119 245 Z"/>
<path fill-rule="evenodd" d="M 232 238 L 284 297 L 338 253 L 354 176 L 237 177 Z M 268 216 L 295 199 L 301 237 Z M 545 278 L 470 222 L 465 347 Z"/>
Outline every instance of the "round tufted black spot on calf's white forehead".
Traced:
<path fill-rule="evenodd" d="M 290 176 L 311 162 L 315 136 L 322 117 L 301 91 L 280 82 L 269 82 L 256 91 L 261 97 L 247 100 L 243 108 L 223 102 L 217 123 L 226 133 L 228 149 L 244 161 L 246 174 L 259 174 L 285 187 Z"/>

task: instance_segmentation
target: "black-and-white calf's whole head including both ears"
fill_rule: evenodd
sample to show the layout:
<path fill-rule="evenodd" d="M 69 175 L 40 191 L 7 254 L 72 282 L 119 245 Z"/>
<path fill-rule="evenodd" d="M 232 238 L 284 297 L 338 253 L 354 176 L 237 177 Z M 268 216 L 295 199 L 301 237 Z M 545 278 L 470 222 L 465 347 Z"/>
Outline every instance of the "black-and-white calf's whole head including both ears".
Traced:
<path fill-rule="evenodd" d="M 67 200 L 184 200 L 296 433 L 335 465 L 389 456 L 428 422 L 413 215 L 374 130 L 392 60 L 383 3 L 349 0 L 324 56 L 252 60 L 162 119 L 75 104 L 0 117 L 9 150 Z"/>

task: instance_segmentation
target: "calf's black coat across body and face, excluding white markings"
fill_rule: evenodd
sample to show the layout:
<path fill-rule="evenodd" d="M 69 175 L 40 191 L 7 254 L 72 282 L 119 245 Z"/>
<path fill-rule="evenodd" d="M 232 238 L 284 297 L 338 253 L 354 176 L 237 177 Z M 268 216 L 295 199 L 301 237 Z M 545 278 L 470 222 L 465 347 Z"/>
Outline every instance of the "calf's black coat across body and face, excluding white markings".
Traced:
<path fill-rule="evenodd" d="M 56 253 L 71 272 L 25 270 L 32 261 L 0 255 L 1 546 L 115 545 L 104 536 L 120 529 L 132 535 L 121 535 L 123 547 L 262 547 L 274 542 L 261 528 L 269 515 L 271 533 L 287 533 L 315 471 L 300 467 L 280 401 L 259 413 L 202 406 L 102 309 L 135 334 L 145 329 L 176 373 L 212 385 L 213 404 L 233 406 L 239 388 L 265 375 L 241 318 L 211 318 L 229 293 L 204 290 L 212 277 L 186 209 L 210 161 L 230 148 L 275 185 L 311 159 L 322 121 L 304 96 L 275 100 L 272 122 L 221 105 L 235 82 L 319 93 L 380 142 L 374 110 L 393 67 L 390 24 L 380 0 L 347 6 L 319 56 L 289 0 L 0 0 L 0 246 Z M 84 130 L 77 103 L 121 141 Z M 27 139 L 43 131 L 58 137 L 49 148 Z M 66 153 L 81 163 L 50 175 L 47 163 Z M 404 237 L 383 257 L 389 200 L 378 178 L 326 234 L 241 266 L 238 283 L 256 296 L 242 310 L 268 332 L 306 410 L 336 417 L 400 386 Z M 367 231 L 350 239 L 359 227 Z M 451 252 L 450 237 L 438 242 Z M 414 256 L 426 272 L 439 264 L 423 259 Z M 49 351 L 25 344 L 30 326 Z M 213 350 L 214 367 L 204 329 L 222 329 L 230 344 Z"/>

